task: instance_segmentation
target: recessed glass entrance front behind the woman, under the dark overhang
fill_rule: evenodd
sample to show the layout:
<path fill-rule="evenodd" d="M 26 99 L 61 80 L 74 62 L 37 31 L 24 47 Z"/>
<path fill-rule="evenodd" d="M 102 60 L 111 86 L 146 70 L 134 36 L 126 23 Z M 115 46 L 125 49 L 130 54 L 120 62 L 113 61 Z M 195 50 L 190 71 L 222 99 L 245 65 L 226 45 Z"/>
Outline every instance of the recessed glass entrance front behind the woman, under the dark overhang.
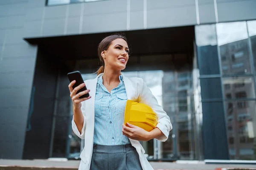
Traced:
<path fill-rule="evenodd" d="M 141 142 L 149 160 L 195 160 L 203 157 L 199 72 L 197 69 L 192 69 L 192 63 L 186 60 L 187 57 L 181 59 L 179 56 L 186 56 L 186 54 L 134 56 L 131 57 L 131 62 L 125 69 L 127 71 L 122 72 L 126 77 L 140 77 L 144 80 L 158 103 L 163 106 L 173 125 L 173 130 L 166 142 L 156 139 Z M 159 60 L 155 60 L 156 58 Z M 176 59 L 179 59 L 180 67 L 175 69 L 171 61 L 175 62 Z M 140 67 L 137 67 L 139 62 Z M 78 61 L 76 69 L 84 68 L 82 63 L 89 62 Z M 96 77 L 96 74 L 81 72 L 84 73 L 83 79 Z M 80 141 L 73 133 L 70 137 L 73 141 L 73 145 L 70 144 L 71 158 L 78 155 Z"/>

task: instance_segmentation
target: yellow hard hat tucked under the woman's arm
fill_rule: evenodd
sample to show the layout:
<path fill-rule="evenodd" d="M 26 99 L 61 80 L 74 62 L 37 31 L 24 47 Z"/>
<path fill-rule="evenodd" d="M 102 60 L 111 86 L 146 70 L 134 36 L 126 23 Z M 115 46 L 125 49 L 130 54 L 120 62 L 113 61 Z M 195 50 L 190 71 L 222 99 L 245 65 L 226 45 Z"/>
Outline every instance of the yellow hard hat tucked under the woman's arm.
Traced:
<path fill-rule="evenodd" d="M 127 100 L 125 106 L 125 125 L 126 123 L 151 131 L 157 126 L 157 114 L 143 103 Z"/>

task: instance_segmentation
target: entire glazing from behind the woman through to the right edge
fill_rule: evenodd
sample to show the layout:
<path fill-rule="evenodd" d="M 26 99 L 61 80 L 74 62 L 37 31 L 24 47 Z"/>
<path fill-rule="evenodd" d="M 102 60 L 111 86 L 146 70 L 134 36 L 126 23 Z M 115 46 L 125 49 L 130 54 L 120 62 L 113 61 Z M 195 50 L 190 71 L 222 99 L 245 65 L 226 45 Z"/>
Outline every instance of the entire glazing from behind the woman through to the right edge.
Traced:
<path fill-rule="evenodd" d="M 166 142 L 141 142 L 149 160 L 256 160 L 255 30 L 256 21 L 195 26 L 193 62 L 187 54 L 131 57 L 123 74 L 146 82 L 173 125 Z M 69 137 L 74 157 L 83 142 Z"/>

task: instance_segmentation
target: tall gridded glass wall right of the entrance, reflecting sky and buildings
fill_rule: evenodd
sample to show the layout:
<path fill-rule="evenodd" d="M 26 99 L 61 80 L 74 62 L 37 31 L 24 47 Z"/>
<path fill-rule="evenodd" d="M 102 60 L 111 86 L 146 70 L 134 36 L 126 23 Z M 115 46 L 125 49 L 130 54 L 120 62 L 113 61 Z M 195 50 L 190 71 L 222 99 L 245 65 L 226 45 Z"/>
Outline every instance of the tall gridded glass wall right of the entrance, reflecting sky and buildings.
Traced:
<path fill-rule="evenodd" d="M 216 111 L 224 109 L 223 116 L 218 115 L 219 122 L 224 117 L 218 132 L 223 133 L 225 140 L 217 138 L 217 134 L 204 134 L 227 143 L 226 159 L 256 160 L 256 21 L 196 26 L 195 34 L 204 128 L 215 128 L 207 126 L 214 123 L 208 117 L 215 119 L 219 114 Z M 218 101 L 223 105 L 211 111 L 213 102 Z M 207 139 L 205 145 L 206 142 Z M 215 156 L 218 157 L 217 153 Z"/>

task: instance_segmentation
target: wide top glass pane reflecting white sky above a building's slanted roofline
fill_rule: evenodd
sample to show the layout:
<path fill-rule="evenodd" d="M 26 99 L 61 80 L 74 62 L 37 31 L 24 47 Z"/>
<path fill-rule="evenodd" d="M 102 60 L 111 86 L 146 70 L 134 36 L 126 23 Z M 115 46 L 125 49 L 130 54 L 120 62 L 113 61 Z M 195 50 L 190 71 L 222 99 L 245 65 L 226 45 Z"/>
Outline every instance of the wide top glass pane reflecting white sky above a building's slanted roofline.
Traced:
<path fill-rule="evenodd" d="M 216 24 L 224 75 L 251 73 L 246 22 Z"/>

